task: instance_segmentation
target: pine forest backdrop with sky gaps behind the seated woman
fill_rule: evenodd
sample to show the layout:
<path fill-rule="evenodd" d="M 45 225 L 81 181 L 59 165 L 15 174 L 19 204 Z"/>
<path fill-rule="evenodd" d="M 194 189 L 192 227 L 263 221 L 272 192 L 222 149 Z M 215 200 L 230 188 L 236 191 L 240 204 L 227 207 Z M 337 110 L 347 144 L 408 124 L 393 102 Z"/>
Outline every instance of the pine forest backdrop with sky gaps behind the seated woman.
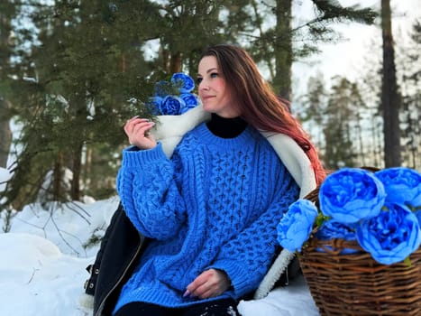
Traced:
<path fill-rule="evenodd" d="M 144 101 L 154 83 L 178 71 L 195 78 L 201 51 L 220 42 L 250 51 L 326 168 L 419 171 L 421 16 L 393 33 L 389 0 L 360 3 L 2 0 L 0 167 L 12 178 L 0 209 L 114 196 L 125 120 L 153 118 Z M 329 60 L 314 64 L 317 53 L 345 40 L 338 25 L 355 23 L 378 29 L 366 51 L 349 52 L 365 55 L 358 75 L 326 79 Z M 302 65 L 306 75 L 294 72 Z"/>

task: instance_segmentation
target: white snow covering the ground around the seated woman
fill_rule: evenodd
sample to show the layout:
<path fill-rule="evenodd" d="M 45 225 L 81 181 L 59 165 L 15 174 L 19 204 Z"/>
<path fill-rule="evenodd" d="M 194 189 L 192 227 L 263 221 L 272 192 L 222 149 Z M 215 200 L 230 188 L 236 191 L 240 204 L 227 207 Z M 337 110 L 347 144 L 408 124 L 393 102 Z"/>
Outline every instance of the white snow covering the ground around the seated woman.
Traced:
<path fill-rule="evenodd" d="M 0 168 L 0 183 L 10 174 Z M 0 188 L 1 189 L 1 188 Z M 81 304 L 86 267 L 93 264 L 99 245 L 86 246 L 91 237 L 104 236 L 118 198 L 63 205 L 32 204 L 0 213 L 0 315 L 87 316 Z M 317 316 L 304 279 L 272 291 L 258 301 L 240 302 L 243 316 Z"/>

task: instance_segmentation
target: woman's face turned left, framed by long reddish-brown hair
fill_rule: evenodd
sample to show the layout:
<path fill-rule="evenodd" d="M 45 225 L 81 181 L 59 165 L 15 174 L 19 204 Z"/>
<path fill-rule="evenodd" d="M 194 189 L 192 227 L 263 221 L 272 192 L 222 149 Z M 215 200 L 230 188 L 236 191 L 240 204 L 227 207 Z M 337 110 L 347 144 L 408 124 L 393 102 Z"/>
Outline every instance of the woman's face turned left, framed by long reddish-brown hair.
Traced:
<path fill-rule="evenodd" d="M 231 98 L 215 56 L 205 56 L 198 65 L 198 93 L 206 112 L 222 117 L 240 116 L 240 110 Z"/>

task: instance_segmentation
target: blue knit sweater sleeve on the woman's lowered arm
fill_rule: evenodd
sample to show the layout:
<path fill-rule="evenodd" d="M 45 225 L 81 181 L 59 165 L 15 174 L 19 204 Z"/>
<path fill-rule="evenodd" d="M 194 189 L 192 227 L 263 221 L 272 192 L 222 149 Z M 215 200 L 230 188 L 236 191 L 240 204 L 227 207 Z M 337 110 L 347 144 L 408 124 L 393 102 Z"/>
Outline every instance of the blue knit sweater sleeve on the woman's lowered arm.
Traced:
<path fill-rule="evenodd" d="M 256 290 L 267 273 L 278 245 L 276 228 L 289 204 L 297 200 L 299 188 L 296 181 L 283 167 L 277 194 L 270 207 L 228 241 L 212 266 L 223 270 L 230 278 L 234 295 L 240 298 Z"/>

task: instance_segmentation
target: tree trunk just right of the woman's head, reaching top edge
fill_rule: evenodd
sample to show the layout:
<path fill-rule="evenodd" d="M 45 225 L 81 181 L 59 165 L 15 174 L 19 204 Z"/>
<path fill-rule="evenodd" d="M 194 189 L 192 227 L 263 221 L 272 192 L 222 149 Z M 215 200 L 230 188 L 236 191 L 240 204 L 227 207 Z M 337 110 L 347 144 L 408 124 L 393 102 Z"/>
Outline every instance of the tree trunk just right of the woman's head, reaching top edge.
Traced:
<path fill-rule="evenodd" d="M 272 86 L 279 91 L 279 96 L 290 100 L 291 95 L 291 10 L 292 0 L 277 0 L 276 5 L 276 42 L 275 59 L 276 75 Z"/>

